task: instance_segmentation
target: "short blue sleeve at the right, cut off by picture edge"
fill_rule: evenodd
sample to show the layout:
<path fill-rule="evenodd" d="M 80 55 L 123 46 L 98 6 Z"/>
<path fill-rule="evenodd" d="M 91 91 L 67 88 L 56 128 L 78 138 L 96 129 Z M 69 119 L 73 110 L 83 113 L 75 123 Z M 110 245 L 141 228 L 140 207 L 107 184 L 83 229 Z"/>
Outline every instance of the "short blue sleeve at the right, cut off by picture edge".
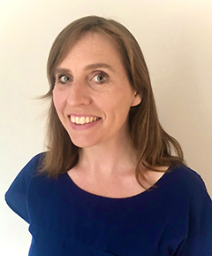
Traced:
<path fill-rule="evenodd" d="M 188 234 L 176 256 L 212 256 L 212 202 L 200 175 L 196 181 L 190 199 Z"/>

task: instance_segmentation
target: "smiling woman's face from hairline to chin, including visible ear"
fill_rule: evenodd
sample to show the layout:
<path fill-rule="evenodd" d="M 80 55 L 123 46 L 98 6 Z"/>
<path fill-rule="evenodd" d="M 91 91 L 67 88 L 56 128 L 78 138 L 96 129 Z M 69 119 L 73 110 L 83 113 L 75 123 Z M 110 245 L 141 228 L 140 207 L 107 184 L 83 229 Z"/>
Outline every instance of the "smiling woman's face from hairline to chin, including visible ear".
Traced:
<path fill-rule="evenodd" d="M 81 147 L 127 138 L 130 107 L 140 104 L 116 47 L 97 33 L 74 44 L 56 70 L 53 101 L 59 119 Z"/>

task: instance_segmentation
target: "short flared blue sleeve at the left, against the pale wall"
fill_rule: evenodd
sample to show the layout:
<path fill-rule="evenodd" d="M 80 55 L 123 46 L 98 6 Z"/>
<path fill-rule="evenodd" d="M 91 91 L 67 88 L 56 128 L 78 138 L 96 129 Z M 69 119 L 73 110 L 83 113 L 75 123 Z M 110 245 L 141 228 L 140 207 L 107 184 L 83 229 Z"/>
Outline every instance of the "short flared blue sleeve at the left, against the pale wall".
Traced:
<path fill-rule="evenodd" d="M 7 205 L 28 223 L 30 223 L 30 219 L 27 210 L 27 190 L 41 155 L 42 154 L 36 155 L 27 163 L 11 183 L 9 190 L 7 190 L 5 194 Z"/>

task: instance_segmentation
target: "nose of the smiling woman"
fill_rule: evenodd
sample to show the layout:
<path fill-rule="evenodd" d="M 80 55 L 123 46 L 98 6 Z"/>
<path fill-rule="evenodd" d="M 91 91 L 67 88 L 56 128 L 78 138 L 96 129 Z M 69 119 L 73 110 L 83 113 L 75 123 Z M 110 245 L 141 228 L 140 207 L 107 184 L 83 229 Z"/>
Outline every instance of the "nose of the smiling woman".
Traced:
<path fill-rule="evenodd" d="M 67 103 L 71 106 L 89 105 L 91 102 L 91 92 L 85 82 L 73 81 L 69 89 Z"/>

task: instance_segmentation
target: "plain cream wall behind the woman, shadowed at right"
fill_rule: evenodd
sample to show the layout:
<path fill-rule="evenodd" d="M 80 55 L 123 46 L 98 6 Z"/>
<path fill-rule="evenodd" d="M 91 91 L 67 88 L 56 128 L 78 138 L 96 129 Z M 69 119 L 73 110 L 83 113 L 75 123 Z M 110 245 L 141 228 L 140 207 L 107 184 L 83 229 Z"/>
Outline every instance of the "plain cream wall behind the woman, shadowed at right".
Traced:
<path fill-rule="evenodd" d="M 116 19 L 147 60 L 159 118 L 212 195 L 211 0 L 0 0 L 0 254 L 27 255 L 28 225 L 4 193 L 44 148 L 46 60 L 57 34 L 87 15 Z"/>

